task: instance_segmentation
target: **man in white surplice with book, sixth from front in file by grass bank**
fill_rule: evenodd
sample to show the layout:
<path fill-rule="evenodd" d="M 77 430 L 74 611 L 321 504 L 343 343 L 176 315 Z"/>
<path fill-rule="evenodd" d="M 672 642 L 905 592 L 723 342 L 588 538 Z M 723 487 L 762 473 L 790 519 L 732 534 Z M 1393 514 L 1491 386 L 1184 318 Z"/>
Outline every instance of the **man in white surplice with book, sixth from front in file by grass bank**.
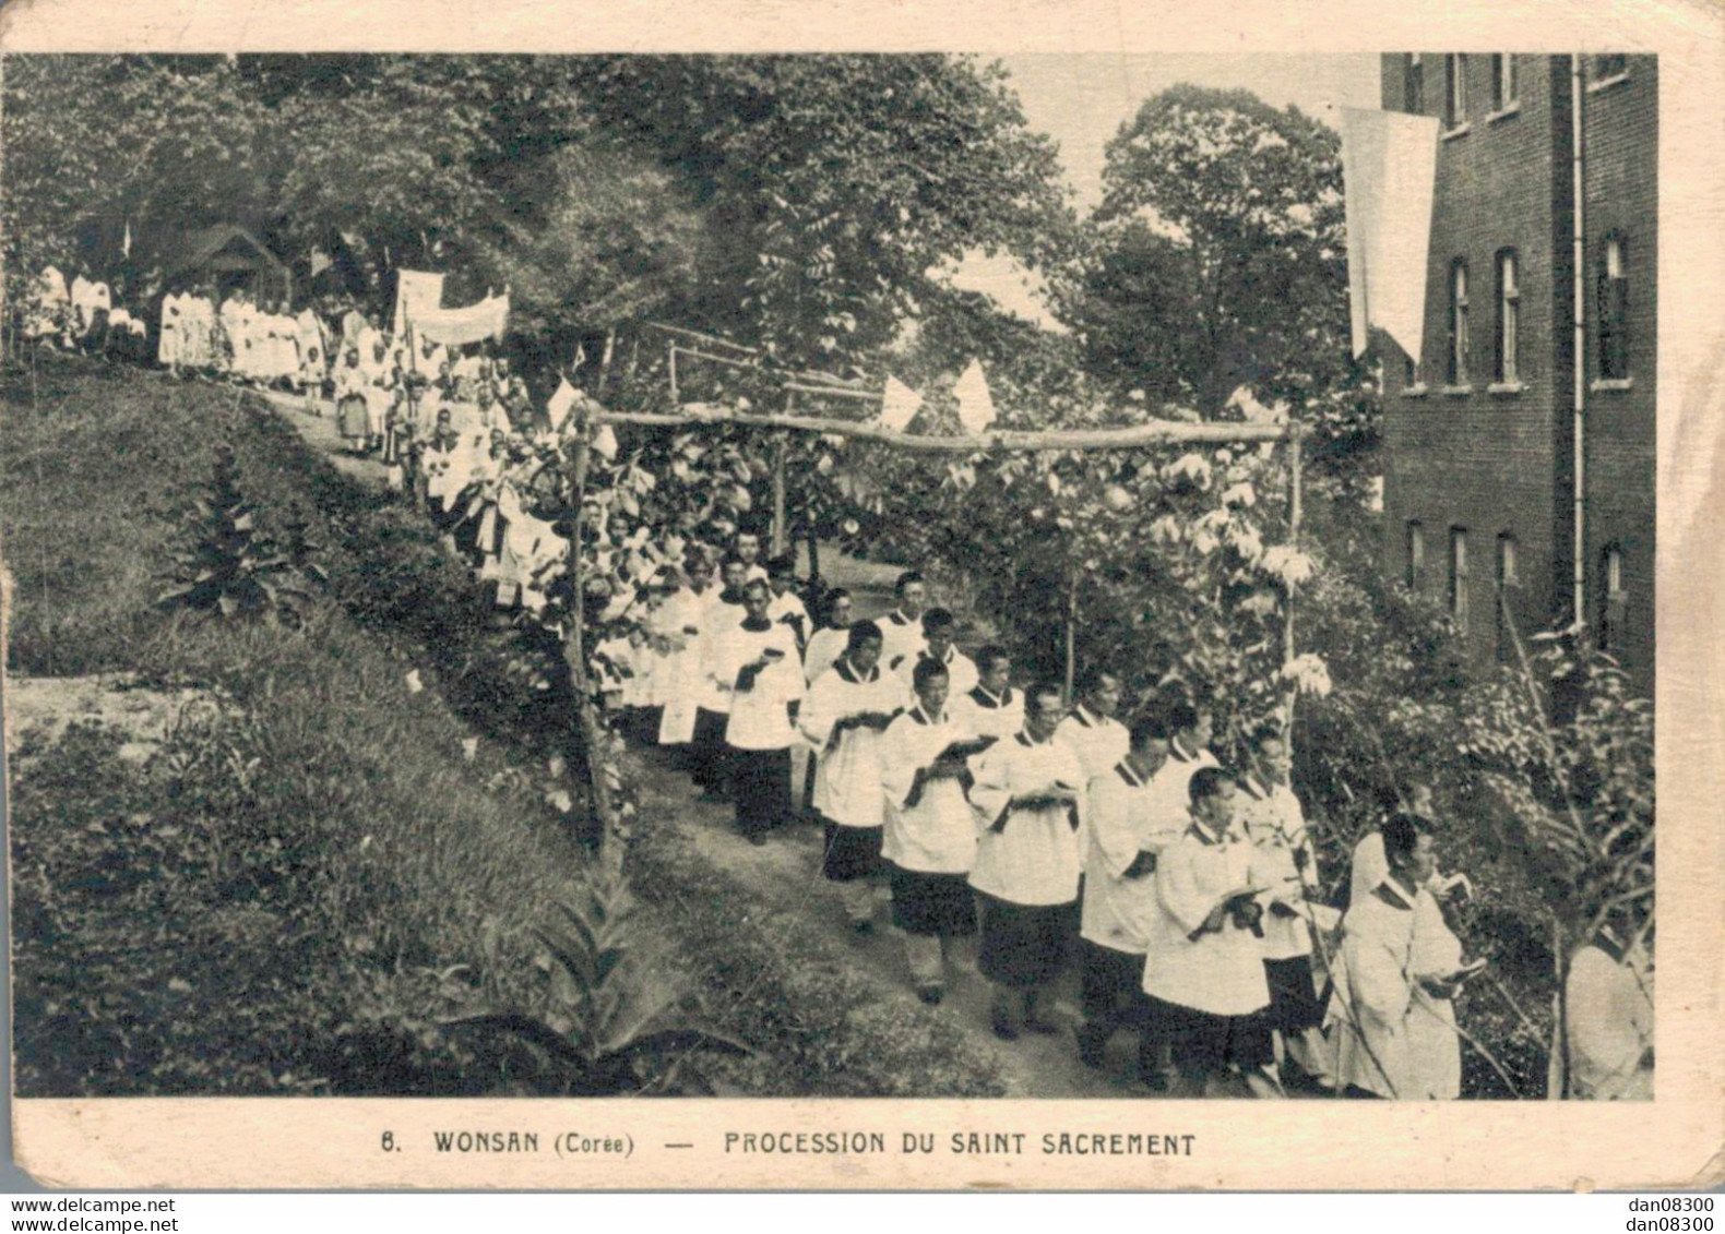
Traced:
<path fill-rule="evenodd" d="M 792 817 L 792 703 L 802 700 L 797 641 L 768 620 L 771 591 L 756 579 L 743 588 L 743 619 L 714 639 L 711 676 L 730 695 L 724 745 L 737 798 L 737 829 L 750 844 Z"/>

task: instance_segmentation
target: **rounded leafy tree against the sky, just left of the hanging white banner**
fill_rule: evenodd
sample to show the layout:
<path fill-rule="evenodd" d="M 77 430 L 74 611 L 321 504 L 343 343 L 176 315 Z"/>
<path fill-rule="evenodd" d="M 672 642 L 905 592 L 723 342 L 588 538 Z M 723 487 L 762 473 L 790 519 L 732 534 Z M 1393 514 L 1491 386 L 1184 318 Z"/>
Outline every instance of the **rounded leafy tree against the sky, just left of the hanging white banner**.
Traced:
<path fill-rule="evenodd" d="M 1107 145 L 1068 314 L 1118 383 L 1194 403 L 1301 405 L 1342 381 L 1339 138 L 1244 90 L 1173 86 Z"/>

